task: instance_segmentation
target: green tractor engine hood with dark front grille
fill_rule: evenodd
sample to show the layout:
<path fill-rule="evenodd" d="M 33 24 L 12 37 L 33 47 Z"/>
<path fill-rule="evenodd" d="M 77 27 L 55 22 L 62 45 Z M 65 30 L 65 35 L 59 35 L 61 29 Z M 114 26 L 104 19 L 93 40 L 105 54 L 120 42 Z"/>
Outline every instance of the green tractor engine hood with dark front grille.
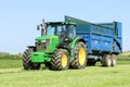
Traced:
<path fill-rule="evenodd" d="M 39 52 L 52 53 L 60 45 L 58 36 L 41 36 L 36 38 L 36 48 Z"/>

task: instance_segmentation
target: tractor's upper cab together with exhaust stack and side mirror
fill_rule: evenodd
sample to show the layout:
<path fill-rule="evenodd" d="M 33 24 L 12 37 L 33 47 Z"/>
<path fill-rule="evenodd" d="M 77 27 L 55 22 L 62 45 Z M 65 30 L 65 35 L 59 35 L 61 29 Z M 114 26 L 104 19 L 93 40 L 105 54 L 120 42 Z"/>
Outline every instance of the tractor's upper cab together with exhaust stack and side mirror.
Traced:
<path fill-rule="evenodd" d="M 42 20 L 42 24 L 37 26 L 37 29 L 41 29 L 41 36 L 58 36 L 58 37 L 76 37 L 76 23 L 70 22 L 47 22 Z"/>

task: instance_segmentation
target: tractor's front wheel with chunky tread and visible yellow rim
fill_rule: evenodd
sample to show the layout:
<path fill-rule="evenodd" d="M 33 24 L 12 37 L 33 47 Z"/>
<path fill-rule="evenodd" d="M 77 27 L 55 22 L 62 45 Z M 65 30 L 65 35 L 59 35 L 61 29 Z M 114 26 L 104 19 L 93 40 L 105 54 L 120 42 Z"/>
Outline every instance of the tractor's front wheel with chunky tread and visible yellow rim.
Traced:
<path fill-rule="evenodd" d="M 67 70 L 69 64 L 69 55 L 66 49 L 57 49 L 52 57 L 51 67 L 52 70 L 61 71 Z"/>

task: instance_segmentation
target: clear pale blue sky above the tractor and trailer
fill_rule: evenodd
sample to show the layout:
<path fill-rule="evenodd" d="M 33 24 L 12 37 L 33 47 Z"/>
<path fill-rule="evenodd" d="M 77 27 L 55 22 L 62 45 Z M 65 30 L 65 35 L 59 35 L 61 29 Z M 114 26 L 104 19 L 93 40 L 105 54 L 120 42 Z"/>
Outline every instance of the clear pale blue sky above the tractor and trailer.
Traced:
<path fill-rule="evenodd" d="M 23 53 L 40 36 L 37 25 L 69 15 L 91 23 L 122 23 L 122 50 L 130 51 L 130 0 L 0 0 L 0 52 Z"/>

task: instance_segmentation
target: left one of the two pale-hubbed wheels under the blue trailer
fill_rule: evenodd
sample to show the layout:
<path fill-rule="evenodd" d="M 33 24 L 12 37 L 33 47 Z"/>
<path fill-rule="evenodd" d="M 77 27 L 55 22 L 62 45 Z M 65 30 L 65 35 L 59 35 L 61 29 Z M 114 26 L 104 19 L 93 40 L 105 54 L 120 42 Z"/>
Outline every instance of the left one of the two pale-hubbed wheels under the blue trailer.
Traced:
<path fill-rule="evenodd" d="M 112 65 L 112 60 L 109 54 L 105 54 L 101 59 L 102 66 L 110 66 Z"/>

